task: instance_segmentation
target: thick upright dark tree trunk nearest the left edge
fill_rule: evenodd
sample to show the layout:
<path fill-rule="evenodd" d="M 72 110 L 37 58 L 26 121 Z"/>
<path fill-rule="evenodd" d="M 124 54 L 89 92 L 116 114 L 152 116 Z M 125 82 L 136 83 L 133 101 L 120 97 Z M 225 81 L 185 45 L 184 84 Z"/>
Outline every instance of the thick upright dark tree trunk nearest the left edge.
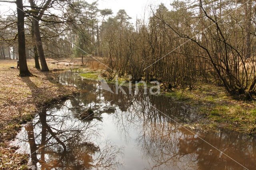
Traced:
<path fill-rule="evenodd" d="M 26 59 L 26 44 L 25 44 L 25 31 L 24 31 L 24 12 L 22 0 L 16 1 L 17 5 L 17 27 L 18 27 L 18 55 L 20 64 L 20 76 L 33 76 L 28 70 Z"/>

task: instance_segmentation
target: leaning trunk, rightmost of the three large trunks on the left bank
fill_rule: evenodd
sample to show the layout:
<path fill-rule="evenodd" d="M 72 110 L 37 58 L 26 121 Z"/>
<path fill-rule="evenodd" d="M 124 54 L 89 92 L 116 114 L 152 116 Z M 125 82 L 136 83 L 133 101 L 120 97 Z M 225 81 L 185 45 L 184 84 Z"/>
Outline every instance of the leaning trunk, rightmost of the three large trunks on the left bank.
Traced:
<path fill-rule="evenodd" d="M 42 39 L 40 36 L 40 30 L 39 30 L 39 21 L 34 19 L 34 31 L 35 31 L 35 36 L 36 36 L 36 43 L 37 43 L 37 50 L 38 50 L 38 55 L 40 57 L 40 63 L 42 66 L 41 71 L 49 71 L 49 68 L 47 66 L 45 57 L 44 57 L 44 49 L 42 45 Z"/>

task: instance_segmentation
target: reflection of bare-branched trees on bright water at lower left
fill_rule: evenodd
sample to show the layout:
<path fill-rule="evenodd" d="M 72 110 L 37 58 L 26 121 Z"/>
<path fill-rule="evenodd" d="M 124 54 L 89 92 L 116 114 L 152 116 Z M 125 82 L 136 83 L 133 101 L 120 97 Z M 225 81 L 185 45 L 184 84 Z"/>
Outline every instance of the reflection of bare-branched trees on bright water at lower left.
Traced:
<path fill-rule="evenodd" d="M 45 109 L 19 133 L 16 142 L 23 150 L 30 148 L 31 164 L 41 169 L 113 169 L 122 164 L 122 147 L 91 142 L 99 136 L 99 121 L 80 121 L 70 112 L 72 102 Z"/>

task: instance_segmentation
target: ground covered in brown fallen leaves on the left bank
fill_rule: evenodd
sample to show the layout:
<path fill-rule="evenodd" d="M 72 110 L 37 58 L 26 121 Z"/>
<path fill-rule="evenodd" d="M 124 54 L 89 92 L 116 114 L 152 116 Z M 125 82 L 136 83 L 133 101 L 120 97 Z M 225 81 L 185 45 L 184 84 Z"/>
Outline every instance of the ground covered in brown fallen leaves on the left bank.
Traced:
<path fill-rule="evenodd" d="M 28 60 L 28 68 L 37 77 L 19 77 L 16 62 L 0 61 L 0 169 L 26 169 L 27 155 L 15 153 L 16 148 L 8 145 L 21 124 L 30 121 L 42 107 L 78 94 L 75 87 L 55 82 L 56 72 L 40 72 L 34 68 L 33 59 Z M 47 63 L 50 70 L 78 65 L 52 59 Z"/>

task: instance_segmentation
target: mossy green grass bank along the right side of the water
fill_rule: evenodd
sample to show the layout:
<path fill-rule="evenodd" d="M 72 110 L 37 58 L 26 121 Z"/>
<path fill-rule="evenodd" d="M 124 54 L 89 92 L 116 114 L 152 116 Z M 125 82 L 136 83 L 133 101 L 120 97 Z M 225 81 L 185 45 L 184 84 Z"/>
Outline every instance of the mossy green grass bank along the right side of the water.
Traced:
<path fill-rule="evenodd" d="M 197 113 L 210 120 L 200 123 L 206 129 L 225 128 L 256 134 L 256 102 L 234 100 L 223 87 L 209 83 L 193 90 L 173 89 L 162 95 L 195 107 Z"/>

